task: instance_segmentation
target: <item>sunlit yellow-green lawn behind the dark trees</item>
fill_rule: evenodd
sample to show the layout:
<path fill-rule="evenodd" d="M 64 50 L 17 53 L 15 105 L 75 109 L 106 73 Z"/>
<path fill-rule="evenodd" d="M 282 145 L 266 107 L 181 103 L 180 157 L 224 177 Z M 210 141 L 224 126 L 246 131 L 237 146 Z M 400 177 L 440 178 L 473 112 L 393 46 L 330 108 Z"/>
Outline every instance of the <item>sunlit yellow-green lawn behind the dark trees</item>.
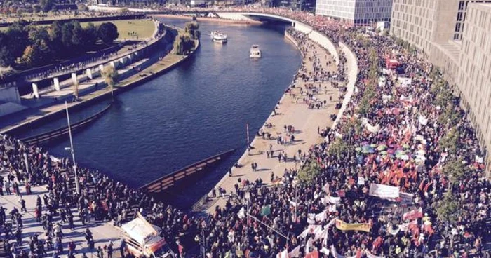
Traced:
<path fill-rule="evenodd" d="M 154 22 L 149 19 L 143 20 L 111 20 L 118 27 L 118 40 L 132 39 L 130 33 L 134 32 L 133 39 L 146 39 L 154 33 Z M 92 22 L 94 25 L 100 25 L 102 22 Z M 82 27 L 86 27 L 88 22 L 82 22 Z"/>

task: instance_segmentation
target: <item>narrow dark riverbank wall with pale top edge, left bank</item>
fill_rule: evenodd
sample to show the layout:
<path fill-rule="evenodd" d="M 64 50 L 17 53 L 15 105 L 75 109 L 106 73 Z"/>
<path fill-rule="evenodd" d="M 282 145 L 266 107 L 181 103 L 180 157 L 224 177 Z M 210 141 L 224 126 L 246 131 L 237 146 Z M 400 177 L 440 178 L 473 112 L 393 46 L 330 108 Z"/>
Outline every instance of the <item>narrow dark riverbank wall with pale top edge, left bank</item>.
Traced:
<path fill-rule="evenodd" d="M 169 29 L 169 31 L 171 31 L 172 29 L 178 29 L 178 28 L 168 27 L 168 29 Z M 164 69 L 161 69 L 158 72 L 154 72 L 153 74 L 148 74 L 147 76 L 140 77 L 140 79 L 137 79 L 136 81 L 131 81 L 130 83 L 116 86 L 116 87 L 114 87 L 114 90 L 112 92 L 111 92 L 111 90 L 107 89 L 104 93 L 100 93 L 100 94 L 95 95 L 93 97 L 89 97 L 88 99 L 83 100 L 81 102 L 69 103 L 68 109 L 69 109 L 69 111 L 77 111 L 77 110 L 82 109 L 83 107 L 87 107 L 89 104 L 93 104 L 95 102 L 100 102 L 102 100 L 109 100 L 112 98 L 112 95 L 121 94 L 123 92 L 126 92 L 127 90 L 135 88 L 136 86 L 142 85 L 142 83 L 147 83 L 148 81 L 152 81 L 156 77 L 161 76 L 162 74 L 165 74 L 166 72 L 169 72 L 170 70 L 174 69 L 175 67 L 177 67 L 182 62 L 188 60 L 190 57 L 193 57 L 194 54 L 196 53 L 196 51 L 199 50 L 200 46 L 201 46 L 200 41 L 197 40 L 196 41 L 196 47 L 194 48 L 194 50 L 192 50 L 191 53 L 189 53 L 189 55 L 183 55 L 182 59 L 177 60 L 177 61 L 173 62 L 172 64 L 169 64 Z M 26 121 L 26 122 L 21 123 L 19 125 L 15 125 L 12 128 L 8 128 L 6 130 L 1 130 L 0 134 L 15 135 L 17 133 L 21 133 L 22 131 L 26 130 L 27 128 L 32 128 L 36 125 L 46 123 L 46 121 L 49 121 L 49 120 L 55 119 L 55 118 L 60 118 L 62 116 L 65 116 L 65 108 L 60 108 L 58 110 L 52 111 L 52 112 L 45 114 L 39 118 L 36 118 L 32 121 Z"/>

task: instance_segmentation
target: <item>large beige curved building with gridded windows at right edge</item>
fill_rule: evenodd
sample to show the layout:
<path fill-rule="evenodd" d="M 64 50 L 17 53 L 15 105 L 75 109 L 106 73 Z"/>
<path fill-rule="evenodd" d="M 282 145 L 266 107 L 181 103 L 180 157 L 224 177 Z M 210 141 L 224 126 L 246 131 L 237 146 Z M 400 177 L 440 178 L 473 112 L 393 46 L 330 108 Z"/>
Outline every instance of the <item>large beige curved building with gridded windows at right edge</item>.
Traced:
<path fill-rule="evenodd" d="M 491 0 L 394 0 L 391 34 L 457 86 L 491 164 Z"/>

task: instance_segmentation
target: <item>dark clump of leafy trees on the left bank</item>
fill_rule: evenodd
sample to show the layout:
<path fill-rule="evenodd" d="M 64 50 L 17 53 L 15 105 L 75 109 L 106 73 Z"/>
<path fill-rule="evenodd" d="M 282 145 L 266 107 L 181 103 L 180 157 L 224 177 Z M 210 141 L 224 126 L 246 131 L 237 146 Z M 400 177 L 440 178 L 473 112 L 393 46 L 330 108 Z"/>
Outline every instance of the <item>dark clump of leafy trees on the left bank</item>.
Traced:
<path fill-rule="evenodd" d="M 15 22 L 0 32 L 0 66 L 29 69 L 75 57 L 93 50 L 98 40 L 112 43 L 119 36 L 111 22 L 81 27 L 76 20 L 53 22 L 48 27 Z"/>

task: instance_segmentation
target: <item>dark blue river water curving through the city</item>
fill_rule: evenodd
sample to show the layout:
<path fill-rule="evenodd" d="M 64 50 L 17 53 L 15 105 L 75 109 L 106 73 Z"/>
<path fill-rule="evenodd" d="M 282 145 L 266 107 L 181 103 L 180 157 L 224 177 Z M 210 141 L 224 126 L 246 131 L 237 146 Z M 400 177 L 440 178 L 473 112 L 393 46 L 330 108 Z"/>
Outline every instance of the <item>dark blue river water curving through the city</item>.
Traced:
<path fill-rule="evenodd" d="M 178 27 L 187 22 L 161 20 Z M 216 29 L 228 34 L 227 44 L 210 40 L 208 34 Z M 173 191 L 182 208 L 194 203 L 238 160 L 245 149 L 246 123 L 252 140 L 300 67 L 300 53 L 284 38 L 284 29 L 200 22 L 201 48 L 194 57 L 118 95 L 102 118 L 74 135 L 76 162 L 137 187 L 220 151 L 239 148 L 198 182 Z M 260 60 L 250 60 L 253 44 L 260 45 Z M 106 104 L 72 114 L 72 123 Z M 31 134 L 65 123 L 53 121 Z M 68 156 L 67 146 L 65 140 L 48 149 L 55 156 Z"/>

